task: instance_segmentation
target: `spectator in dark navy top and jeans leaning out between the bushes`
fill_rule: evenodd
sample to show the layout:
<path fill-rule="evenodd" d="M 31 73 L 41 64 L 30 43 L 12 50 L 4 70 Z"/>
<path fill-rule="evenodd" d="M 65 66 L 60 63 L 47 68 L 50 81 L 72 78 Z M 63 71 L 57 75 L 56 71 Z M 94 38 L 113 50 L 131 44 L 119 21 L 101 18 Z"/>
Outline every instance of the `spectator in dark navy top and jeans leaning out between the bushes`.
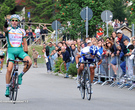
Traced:
<path fill-rule="evenodd" d="M 65 70 L 68 71 L 70 65 L 69 52 L 65 49 L 64 46 L 61 47 L 61 52 L 62 52 L 62 58 L 63 58 Z M 66 76 L 64 78 L 69 78 L 68 73 L 66 73 Z"/>

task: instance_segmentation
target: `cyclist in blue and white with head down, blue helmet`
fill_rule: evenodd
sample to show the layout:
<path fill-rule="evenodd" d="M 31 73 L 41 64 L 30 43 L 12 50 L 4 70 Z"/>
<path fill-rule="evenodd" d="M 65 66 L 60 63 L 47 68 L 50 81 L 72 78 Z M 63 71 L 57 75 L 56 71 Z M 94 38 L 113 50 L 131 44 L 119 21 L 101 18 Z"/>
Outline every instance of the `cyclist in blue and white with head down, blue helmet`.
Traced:
<path fill-rule="evenodd" d="M 81 58 L 80 62 L 82 62 L 82 60 L 86 61 L 88 60 L 89 62 L 91 62 L 90 66 L 90 79 L 91 79 L 91 83 L 93 82 L 94 79 L 94 70 L 96 68 L 95 64 L 92 64 L 92 62 L 95 61 L 95 57 L 97 57 L 98 61 L 98 65 L 100 65 L 102 63 L 102 59 L 101 59 L 101 55 L 98 51 L 98 48 L 94 45 L 91 46 L 91 43 L 88 42 L 87 43 L 87 47 L 83 48 L 81 50 L 81 54 L 76 56 L 76 68 L 77 70 L 77 75 L 78 75 L 78 88 L 80 87 L 80 78 L 81 78 L 81 72 L 84 69 L 84 64 L 80 64 L 79 68 L 78 68 L 78 63 L 79 63 L 79 58 Z"/>

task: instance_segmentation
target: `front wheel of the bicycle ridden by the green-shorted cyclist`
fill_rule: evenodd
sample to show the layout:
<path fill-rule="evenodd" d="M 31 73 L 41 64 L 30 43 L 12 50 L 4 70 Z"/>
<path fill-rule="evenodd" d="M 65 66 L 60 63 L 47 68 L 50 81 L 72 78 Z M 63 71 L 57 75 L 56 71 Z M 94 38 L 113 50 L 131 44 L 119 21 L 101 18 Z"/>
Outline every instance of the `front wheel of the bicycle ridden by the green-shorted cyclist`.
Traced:
<path fill-rule="evenodd" d="M 13 85 L 13 101 L 16 101 L 18 93 L 18 73 L 15 73 L 15 75 L 13 76 Z"/>

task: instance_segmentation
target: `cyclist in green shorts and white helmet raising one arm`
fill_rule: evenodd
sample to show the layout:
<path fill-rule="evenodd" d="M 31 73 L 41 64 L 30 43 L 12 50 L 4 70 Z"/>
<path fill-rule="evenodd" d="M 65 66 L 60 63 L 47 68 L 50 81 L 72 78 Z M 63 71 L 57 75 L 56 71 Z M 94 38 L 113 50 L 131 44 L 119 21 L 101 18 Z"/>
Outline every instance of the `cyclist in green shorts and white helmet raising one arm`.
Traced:
<path fill-rule="evenodd" d="M 31 58 L 28 53 L 27 41 L 25 38 L 25 30 L 18 27 L 20 22 L 20 17 L 17 14 L 11 16 L 11 27 L 8 27 L 7 20 L 4 24 L 4 31 L 7 37 L 8 49 L 7 49 L 7 59 L 15 60 L 15 56 L 23 59 L 23 61 L 29 61 L 28 67 L 24 66 L 23 71 L 18 76 L 18 84 L 22 84 L 22 76 L 29 70 L 32 65 Z M 23 45 L 22 45 L 23 43 Z M 11 72 L 13 68 L 13 61 L 9 61 L 7 72 L 6 72 L 6 92 L 5 96 L 9 97 L 9 83 L 11 78 Z M 27 65 L 27 63 L 25 63 Z"/>

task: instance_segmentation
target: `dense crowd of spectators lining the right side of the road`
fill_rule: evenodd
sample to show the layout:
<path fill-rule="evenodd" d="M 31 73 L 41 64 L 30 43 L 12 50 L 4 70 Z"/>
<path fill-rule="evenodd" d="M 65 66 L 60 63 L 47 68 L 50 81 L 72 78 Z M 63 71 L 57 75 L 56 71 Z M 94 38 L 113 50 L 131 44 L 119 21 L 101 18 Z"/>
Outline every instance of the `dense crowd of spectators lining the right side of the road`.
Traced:
<path fill-rule="evenodd" d="M 135 37 L 129 38 L 125 36 L 121 30 L 112 32 L 111 37 L 103 38 L 86 38 L 85 41 L 80 39 L 61 41 L 58 44 L 49 42 L 44 44 L 42 52 L 44 53 L 44 58 L 46 58 L 47 71 L 54 71 L 55 61 L 58 57 L 63 59 L 65 70 L 68 70 L 71 63 L 75 63 L 75 57 L 80 54 L 81 50 L 88 44 L 95 45 L 98 47 L 99 52 L 102 57 L 111 57 L 111 67 L 114 72 L 114 79 L 117 76 L 117 58 L 120 60 L 120 67 L 122 70 L 121 77 L 126 75 L 126 63 L 128 66 L 128 74 L 130 77 L 133 76 L 132 61 L 134 58 L 134 46 Z M 126 60 L 127 59 L 127 60 Z M 127 62 L 126 62 L 127 61 Z M 104 61 L 100 65 L 101 74 L 106 75 L 104 70 Z M 66 73 L 66 78 L 68 78 L 68 73 Z"/>

